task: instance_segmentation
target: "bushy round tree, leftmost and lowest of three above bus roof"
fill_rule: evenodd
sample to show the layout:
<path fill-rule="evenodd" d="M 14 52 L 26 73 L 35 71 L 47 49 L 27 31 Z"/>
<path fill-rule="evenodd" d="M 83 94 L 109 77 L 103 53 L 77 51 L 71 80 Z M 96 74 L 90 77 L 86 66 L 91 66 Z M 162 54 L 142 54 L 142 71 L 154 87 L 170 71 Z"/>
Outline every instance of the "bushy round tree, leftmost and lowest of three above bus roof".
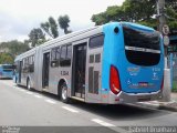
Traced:
<path fill-rule="evenodd" d="M 34 28 L 30 31 L 29 41 L 32 47 L 39 45 L 45 41 L 45 34 L 42 32 L 40 28 Z"/>

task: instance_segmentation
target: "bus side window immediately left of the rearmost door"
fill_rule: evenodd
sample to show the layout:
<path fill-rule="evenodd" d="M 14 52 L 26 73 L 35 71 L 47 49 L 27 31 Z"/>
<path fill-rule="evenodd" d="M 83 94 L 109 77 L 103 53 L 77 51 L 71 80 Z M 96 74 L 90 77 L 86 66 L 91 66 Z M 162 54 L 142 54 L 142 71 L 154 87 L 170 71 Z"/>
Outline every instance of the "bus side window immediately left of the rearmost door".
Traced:
<path fill-rule="evenodd" d="M 70 66 L 71 65 L 71 57 L 72 57 L 72 45 L 63 45 L 61 48 L 61 55 L 60 55 L 60 65 L 61 66 Z"/>

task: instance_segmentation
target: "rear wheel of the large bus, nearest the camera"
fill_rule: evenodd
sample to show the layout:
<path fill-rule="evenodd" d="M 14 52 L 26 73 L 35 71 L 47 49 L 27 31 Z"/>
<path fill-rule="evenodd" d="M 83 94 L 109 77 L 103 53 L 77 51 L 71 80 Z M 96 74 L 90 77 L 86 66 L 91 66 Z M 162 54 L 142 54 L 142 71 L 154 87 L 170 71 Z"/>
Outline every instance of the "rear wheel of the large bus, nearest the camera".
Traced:
<path fill-rule="evenodd" d="M 62 85 L 61 85 L 61 100 L 62 100 L 62 102 L 64 102 L 64 103 L 69 103 L 69 96 L 67 96 L 67 85 L 65 84 L 65 82 L 64 83 L 62 83 Z"/>

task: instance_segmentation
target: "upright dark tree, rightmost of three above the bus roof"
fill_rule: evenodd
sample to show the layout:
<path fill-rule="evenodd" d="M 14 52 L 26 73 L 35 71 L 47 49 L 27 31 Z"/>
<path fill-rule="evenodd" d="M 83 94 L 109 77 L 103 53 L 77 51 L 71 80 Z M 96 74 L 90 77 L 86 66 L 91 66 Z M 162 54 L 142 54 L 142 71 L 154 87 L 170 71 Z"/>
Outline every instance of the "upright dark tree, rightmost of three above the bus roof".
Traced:
<path fill-rule="evenodd" d="M 70 27 L 69 23 L 70 23 L 70 18 L 67 14 L 65 16 L 60 16 L 59 19 L 58 19 L 58 22 L 59 22 L 59 25 L 61 29 L 64 30 L 64 33 L 67 34 L 70 33 L 71 31 L 67 30 L 67 28 Z"/>

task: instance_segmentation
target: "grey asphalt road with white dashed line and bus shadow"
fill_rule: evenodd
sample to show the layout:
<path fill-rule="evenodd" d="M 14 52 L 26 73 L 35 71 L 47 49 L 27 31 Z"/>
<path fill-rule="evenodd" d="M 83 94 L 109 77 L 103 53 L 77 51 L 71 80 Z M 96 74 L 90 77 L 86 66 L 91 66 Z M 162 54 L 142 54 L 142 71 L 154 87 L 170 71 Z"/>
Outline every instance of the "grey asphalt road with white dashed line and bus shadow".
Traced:
<path fill-rule="evenodd" d="M 4 126 L 28 126 L 21 131 L 29 133 L 34 130 L 32 126 L 41 133 L 59 129 L 73 133 L 125 133 L 134 126 L 175 126 L 177 113 L 136 105 L 65 104 L 55 95 L 0 80 L 0 131 Z"/>

